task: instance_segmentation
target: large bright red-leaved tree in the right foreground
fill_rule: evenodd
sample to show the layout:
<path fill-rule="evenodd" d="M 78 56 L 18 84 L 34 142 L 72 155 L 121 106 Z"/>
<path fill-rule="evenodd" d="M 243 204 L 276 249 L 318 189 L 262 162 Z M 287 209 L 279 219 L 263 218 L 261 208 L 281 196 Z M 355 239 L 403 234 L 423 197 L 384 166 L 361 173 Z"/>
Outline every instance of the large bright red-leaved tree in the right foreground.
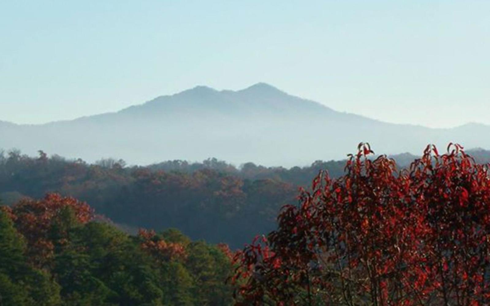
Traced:
<path fill-rule="evenodd" d="M 358 149 L 235 255 L 239 304 L 489 305 L 488 166 L 457 144 L 401 171 Z"/>

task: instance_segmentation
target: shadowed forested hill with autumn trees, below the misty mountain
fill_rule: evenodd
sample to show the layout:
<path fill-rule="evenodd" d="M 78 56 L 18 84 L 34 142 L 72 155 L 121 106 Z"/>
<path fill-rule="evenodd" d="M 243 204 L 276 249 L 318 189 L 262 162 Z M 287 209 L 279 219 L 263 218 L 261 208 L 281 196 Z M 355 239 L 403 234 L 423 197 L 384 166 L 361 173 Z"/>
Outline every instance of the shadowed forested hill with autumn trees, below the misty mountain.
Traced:
<path fill-rule="evenodd" d="M 489 151 L 471 152 L 482 162 L 490 160 Z M 393 157 L 402 166 L 415 158 Z M 320 170 L 338 177 L 344 165 L 317 161 L 289 169 L 253 163 L 236 168 L 208 159 L 129 167 L 113 159 L 87 164 L 14 150 L 0 154 L 0 198 L 13 204 L 22 197 L 59 192 L 88 202 L 98 214 L 133 233 L 140 227 L 178 228 L 193 239 L 241 247 L 253 235 L 272 230 L 279 209 L 296 203 L 297 189 L 308 187 Z"/>

